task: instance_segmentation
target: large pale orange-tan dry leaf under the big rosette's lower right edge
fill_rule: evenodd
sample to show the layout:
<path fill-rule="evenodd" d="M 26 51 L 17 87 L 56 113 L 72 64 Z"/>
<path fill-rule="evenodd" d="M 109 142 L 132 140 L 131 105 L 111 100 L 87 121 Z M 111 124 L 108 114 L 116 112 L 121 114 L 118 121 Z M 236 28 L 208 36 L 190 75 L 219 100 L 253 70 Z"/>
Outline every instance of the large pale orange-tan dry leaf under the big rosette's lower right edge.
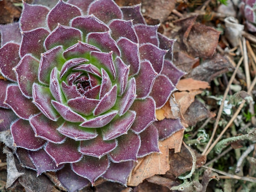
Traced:
<path fill-rule="evenodd" d="M 128 179 L 129 186 L 137 186 L 144 179 L 155 174 L 165 174 L 170 169 L 169 149 L 174 149 L 175 153 L 180 152 L 184 129 L 176 132 L 164 141 L 159 141 L 161 153 L 153 153 L 144 158 L 138 159 L 138 164 L 132 170 L 132 175 Z"/>

